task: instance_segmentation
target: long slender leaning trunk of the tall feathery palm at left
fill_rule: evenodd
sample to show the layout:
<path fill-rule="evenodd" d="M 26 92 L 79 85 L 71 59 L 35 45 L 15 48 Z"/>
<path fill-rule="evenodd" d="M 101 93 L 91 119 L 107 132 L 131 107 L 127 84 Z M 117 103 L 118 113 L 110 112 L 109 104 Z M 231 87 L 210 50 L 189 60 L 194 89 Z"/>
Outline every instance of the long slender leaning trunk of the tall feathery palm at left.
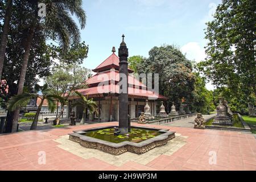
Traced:
<path fill-rule="evenodd" d="M 24 82 L 25 82 L 25 77 L 26 77 L 26 71 L 27 71 L 27 64 L 28 64 L 28 58 L 30 57 L 30 47 L 32 44 L 33 36 L 35 32 L 35 22 L 32 23 L 32 26 L 30 27 L 30 31 L 25 43 L 25 52 L 23 56 L 23 64 L 22 64 L 22 69 L 20 71 L 20 77 L 19 77 L 19 84 L 18 84 L 18 93 L 17 94 L 22 94 L 23 93 L 23 87 L 24 87 Z M 14 111 L 14 117 L 13 117 L 13 128 L 11 132 L 16 132 L 16 128 L 18 125 L 18 119 L 19 119 L 19 110 L 20 108 L 17 108 Z"/>

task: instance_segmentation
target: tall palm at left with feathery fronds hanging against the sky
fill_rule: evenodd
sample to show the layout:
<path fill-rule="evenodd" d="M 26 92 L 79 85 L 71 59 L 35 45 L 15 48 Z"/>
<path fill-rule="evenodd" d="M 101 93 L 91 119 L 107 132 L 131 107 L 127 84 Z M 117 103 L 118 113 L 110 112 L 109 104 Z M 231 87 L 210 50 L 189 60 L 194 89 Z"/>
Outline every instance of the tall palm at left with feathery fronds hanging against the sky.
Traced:
<path fill-rule="evenodd" d="M 23 64 L 20 71 L 18 82 L 18 93 L 23 93 L 24 81 L 26 77 L 27 63 L 30 56 L 30 47 L 33 40 L 36 28 L 44 28 L 46 35 L 53 40 L 58 40 L 60 46 L 67 50 L 70 44 L 77 44 L 80 42 L 80 31 L 77 24 L 72 19 L 73 14 L 76 15 L 81 29 L 85 27 L 86 15 L 82 9 L 82 0 L 44 0 L 42 3 L 46 4 L 45 23 L 42 25 L 38 18 L 38 4 L 37 1 L 28 1 L 34 9 L 34 17 L 31 18 L 31 24 L 28 28 L 27 39 L 24 42 Z M 19 118 L 19 107 L 14 111 L 13 127 L 11 132 L 16 131 Z"/>

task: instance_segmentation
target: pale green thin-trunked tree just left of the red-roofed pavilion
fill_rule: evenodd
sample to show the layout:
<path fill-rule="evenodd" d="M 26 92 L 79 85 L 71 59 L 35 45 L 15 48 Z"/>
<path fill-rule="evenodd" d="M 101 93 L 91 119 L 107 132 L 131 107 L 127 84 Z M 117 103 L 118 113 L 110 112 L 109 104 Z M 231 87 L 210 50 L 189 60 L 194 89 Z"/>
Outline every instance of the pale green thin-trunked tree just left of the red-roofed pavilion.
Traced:
<path fill-rule="evenodd" d="M 64 111 L 64 104 L 68 101 L 69 94 L 77 89 L 86 88 L 85 80 L 88 78 L 90 70 L 79 65 L 59 65 L 51 76 L 46 78 L 46 82 L 53 93 L 63 96 L 65 102 L 61 103 L 61 111 L 57 117 L 59 125 L 60 117 Z"/>

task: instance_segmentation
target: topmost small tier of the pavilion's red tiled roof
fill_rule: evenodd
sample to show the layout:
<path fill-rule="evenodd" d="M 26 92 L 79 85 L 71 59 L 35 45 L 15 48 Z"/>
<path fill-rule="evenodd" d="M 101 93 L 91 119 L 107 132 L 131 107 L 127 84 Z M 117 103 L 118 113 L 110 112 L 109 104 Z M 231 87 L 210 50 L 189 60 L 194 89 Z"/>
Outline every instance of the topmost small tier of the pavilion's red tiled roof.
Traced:
<path fill-rule="evenodd" d="M 99 72 L 104 69 L 108 69 L 112 67 L 119 68 L 119 57 L 115 55 L 114 52 L 105 61 L 103 61 L 100 65 L 98 65 L 95 69 L 93 69 L 93 71 Z M 130 68 L 128 68 L 128 71 L 133 72 Z"/>

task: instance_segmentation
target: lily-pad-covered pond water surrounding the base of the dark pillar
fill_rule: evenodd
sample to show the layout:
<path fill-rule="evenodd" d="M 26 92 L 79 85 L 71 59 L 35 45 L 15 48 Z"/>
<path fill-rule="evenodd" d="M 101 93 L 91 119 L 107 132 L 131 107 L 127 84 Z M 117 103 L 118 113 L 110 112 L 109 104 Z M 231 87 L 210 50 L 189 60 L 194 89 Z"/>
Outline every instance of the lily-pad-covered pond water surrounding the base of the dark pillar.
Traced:
<path fill-rule="evenodd" d="M 139 143 L 139 142 L 142 142 L 143 140 L 154 138 L 162 134 L 159 132 L 159 130 L 141 129 L 136 127 L 131 127 L 131 132 L 128 133 L 127 135 L 123 135 L 123 134 L 114 135 L 114 131 L 115 131 L 114 127 L 110 127 L 106 129 L 86 131 L 86 133 L 82 135 L 105 140 L 108 142 L 113 142 L 113 143 L 121 143 L 125 141 Z"/>

